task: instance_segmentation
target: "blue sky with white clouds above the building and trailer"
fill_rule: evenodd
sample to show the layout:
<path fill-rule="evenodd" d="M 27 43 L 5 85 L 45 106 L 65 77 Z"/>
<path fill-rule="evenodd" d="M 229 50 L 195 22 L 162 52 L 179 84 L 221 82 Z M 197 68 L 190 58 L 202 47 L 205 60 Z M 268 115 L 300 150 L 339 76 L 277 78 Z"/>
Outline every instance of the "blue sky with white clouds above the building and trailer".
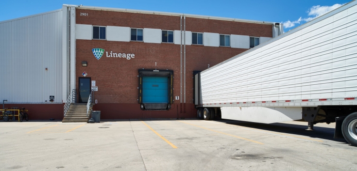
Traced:
<path fill-rule="evenodd" d="M 3 0 L 0 21 L 83 4 L 260 21 L 284 22 L 289 31 L 351 0 Z M 301 17 L 301 18 L 300 18 Z M 299 19 L 300 18 L 300 19 Z M 290 21 L 290 22 L 289 22 Z"/>

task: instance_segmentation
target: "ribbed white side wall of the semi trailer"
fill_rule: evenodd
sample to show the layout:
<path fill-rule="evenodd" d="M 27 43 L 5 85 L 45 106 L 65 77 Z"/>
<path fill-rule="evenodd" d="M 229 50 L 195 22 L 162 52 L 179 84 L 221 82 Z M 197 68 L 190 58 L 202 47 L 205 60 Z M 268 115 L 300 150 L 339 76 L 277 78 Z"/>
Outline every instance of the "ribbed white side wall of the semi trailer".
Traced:
<path fill-rule="evenodd" d="M 205 70 L 203 103 L 357 97 L 356 3 Z"/>

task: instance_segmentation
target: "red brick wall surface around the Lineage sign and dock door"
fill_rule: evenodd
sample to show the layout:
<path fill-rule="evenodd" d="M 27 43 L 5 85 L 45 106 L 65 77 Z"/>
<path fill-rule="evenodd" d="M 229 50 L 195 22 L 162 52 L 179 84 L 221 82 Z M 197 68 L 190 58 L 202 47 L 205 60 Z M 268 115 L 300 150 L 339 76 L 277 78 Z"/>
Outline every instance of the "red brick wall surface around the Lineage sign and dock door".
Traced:
<path fill-rule="evenodd" d="M 133 28 L 154 28 L 167 30 L 180 30 L 180 17 L 162 16 L 150 14 L 136 14 L 123 12 L 110 12 L 99 10 L 76 11 L 77 24 L 90 24 L 102 26 L 125 26 Z M 88 13 L 88 16 L 79 16 L 80 13 Z M 186 20 L 187 31 L 218 32 L 224 34 L 240 34 L 251 36 L 272 37 L 272 26 L 263 24 L 239 23 L 221 20 L 188 18 Z M 107 58 L 104 52 L 102 58 L 97 60 L 92 54 L 92 48 L 103 48 L 105 52 L 113 53 L 134 53 L 134 59 Z M 193 108 L 193 75 L 192 71 L 207 68 L 208 64 L 213 66 L 227 60 L 247 49 L 231 47 L 205 47 L 199 45 L 186 46 L 186 102 L 188 116 L 195 117 Z M 82 61 L 88 62 L 87 67 L 82 66 Z M 156 62 L 156 66 L 155 66 Z M 92 80 L 96 81 L 98 92 L 95 92 L 95 99 L 98 100 L 95 109 L 106 111 L 102 113 L 105 119 L 123 119 L 121 114 L 110 114 L 110 111 L 126 111 L 125 116 L 129 118 L 160 117 L 158 114 L 146 115 L 145 113 L 155 113 L 153 111 L 141 111 L 137 104 L 138 96 L 138 69 L 159 69 L 174 71 L 174 96 L 180 95 L 180 45 L 174 44 L 153 44 L 143 42 L 114 42 L 106 40 L 76 40 L 76 76 L 77 89 L 78 77 L 83 77 L 85 71 Z M 180 103 L 180 100 L 174 102 Z M 110 105 L 113 104 L 113 105 Z M 115 105 L 117 104 L 117 105 Z M 127 104 L 127 105 L 125 105 Z M 133 105 L 131 105 L 133 104 Z M 124 109 L 125 106 L 137 109 Z M 180 107 L 180 105 L 178 104 Z M 191 109 L 192 108 L 192 109 Z M 140 112 L 139 112 L 140 111 Z M 180 109 L 179 109 L 180 112 Z M 175 109 L 166 111 L 167 116 L 176 116 Z"/>

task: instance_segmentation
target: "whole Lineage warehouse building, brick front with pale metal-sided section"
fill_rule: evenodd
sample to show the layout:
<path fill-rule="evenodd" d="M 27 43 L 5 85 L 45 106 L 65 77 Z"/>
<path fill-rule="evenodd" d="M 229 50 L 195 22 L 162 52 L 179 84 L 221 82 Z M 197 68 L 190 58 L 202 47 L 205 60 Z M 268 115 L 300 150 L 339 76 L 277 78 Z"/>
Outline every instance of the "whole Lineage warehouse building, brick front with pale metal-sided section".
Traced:
<path fill-rule="evenodd" d="M 0 96 L 7 108 L 26 107 L 34 119 L 61 119 L 72 90 L 76 103 L 91 94 L 102 119 L 196 117 L 193 72 L 282 31 L 273 22 L 78 5 L 0 27 L 2 44 L 12 42 L 0 47 L 1 69 L 27 63 L 1 77 L 24 73 L 19 80 L 29 83 L 0 83 Z"/>

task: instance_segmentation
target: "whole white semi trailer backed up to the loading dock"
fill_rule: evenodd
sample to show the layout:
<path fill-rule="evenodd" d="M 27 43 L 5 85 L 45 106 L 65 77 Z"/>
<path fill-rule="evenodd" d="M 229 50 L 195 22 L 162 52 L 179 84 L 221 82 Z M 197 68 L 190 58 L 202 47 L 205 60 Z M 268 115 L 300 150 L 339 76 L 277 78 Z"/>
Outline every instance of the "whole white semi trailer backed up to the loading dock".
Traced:
<path fill-rule="evenodd" d="M 357 1 L 196 73 L 202 119 L 336 122 L 357 146 Z"/>

